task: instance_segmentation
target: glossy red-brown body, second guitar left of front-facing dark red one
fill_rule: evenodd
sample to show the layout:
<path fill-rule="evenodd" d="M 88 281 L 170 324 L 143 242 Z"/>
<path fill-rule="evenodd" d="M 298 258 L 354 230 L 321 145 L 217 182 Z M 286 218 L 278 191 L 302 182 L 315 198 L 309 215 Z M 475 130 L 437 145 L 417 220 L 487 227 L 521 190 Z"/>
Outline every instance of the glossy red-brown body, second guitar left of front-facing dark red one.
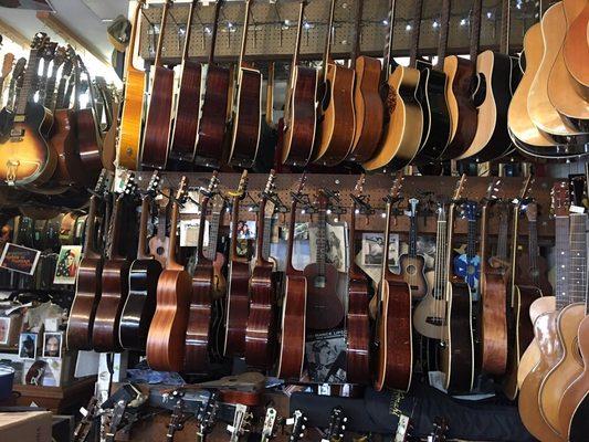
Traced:
<path fill-rule="evenodd" d="M 250 278 L 250 316 L 245 329 L 245 362 L 269 369 L 276 347 L 276 284 L 272 263 L 256 265 Z"/>

